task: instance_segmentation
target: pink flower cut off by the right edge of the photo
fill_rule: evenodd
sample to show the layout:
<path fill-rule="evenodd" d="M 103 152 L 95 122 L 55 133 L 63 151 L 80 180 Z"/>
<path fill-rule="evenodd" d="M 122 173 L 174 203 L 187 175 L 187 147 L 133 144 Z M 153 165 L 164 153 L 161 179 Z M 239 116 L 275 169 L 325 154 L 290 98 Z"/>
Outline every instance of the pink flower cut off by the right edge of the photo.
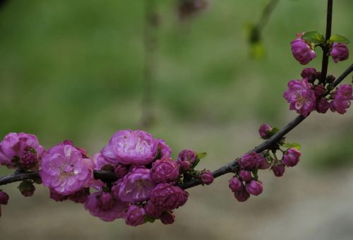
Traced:
<path fill-rule="evenodd" d="M 330 109 L 332 112 L 338 112 L 339 114 L 345 114 L 351 105 L 353 100 L 352 85 L 342 84 L 335 92 L 333 92 L 333 101 L 330 102 Z"/>

